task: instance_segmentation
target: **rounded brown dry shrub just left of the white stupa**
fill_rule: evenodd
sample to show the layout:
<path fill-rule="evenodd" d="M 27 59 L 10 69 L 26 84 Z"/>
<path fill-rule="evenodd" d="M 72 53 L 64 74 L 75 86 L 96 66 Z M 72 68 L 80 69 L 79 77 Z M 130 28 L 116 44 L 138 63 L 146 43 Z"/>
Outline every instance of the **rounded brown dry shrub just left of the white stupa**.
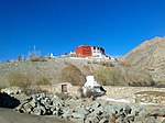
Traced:
<path fill-rule="evenodd" d="M 85 82 L 85 76 L 78 67 L 68 65 L 62 69 L 62 81 L 70 82 L 74 86 L 82 86 Z"/>

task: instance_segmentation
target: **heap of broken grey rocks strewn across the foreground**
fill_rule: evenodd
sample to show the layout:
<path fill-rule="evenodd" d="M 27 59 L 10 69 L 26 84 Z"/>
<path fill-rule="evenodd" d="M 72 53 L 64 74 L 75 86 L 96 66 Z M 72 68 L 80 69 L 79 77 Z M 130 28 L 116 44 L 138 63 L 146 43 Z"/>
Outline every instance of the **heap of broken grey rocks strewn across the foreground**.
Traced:
<path fill-rule="evenodd" d="M 75 103 L 78 102 L 78 104 L 72 107 L 70 100 L 75 100 Z M 163 114 L 164 111 L 148 113 L 145 107 L 139 104 L 110 105 L 106 100 L 95 100 L 87 103 L 85 99 L 68 98 L 63 100 L 55 94 L 45 93 L 29 97 L 15 110 L 35 115 L 56 115 L 77 123 L 111 123 L 112 121 L 114 123 L 136 123 L 145 116 L 147 119 L 143 123 L 147 123 L 154 114 L 162 116 L 160 114 Z M 157 119 L 152 121 L 157 122 Z"/>

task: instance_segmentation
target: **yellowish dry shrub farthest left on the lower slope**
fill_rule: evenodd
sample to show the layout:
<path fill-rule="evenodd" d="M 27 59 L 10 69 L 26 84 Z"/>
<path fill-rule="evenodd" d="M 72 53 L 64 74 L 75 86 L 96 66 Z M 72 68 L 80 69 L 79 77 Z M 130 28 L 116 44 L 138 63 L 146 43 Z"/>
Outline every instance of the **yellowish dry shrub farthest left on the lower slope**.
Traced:
<path fill-rule="evenodd" d="M 9 74 L 8 81 L 11 87 L 18 86 L 22 88 L 23 90 L 25 90 L 28 87 L 31 86 L 30 78 L 31 77 L 29 75 L 12 72 L 12 74 Z"/>

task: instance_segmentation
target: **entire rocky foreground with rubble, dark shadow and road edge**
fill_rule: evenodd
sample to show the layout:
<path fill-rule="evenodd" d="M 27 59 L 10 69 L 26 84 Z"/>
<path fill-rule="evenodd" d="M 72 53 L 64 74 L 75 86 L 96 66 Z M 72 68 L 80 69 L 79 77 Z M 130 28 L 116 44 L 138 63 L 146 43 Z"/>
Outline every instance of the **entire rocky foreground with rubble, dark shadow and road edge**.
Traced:
<path fill-rule="evenodd" d="M 0 94 L 1 108 L 14 108 L 0 109 L 1 123 L 165 123 L 165 94 L 161 91 L 138 92 L 139 100 L 131 103 L 109 96 L 94 100 L 65 93 L 16 93 Z M 150 103 L 153 99 L 157 101 Z"/>

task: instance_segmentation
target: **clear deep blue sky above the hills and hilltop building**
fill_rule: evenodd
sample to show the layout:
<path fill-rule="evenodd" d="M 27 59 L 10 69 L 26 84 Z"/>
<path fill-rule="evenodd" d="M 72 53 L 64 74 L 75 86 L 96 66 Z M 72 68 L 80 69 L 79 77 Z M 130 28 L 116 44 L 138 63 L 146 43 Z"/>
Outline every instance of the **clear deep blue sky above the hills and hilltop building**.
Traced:
<path fill-rule="evenodd" d="M 165 36 L 165 0 L 0 0 L 0 60 L 69 53 L 81 44 L 121 56 Z"/>

